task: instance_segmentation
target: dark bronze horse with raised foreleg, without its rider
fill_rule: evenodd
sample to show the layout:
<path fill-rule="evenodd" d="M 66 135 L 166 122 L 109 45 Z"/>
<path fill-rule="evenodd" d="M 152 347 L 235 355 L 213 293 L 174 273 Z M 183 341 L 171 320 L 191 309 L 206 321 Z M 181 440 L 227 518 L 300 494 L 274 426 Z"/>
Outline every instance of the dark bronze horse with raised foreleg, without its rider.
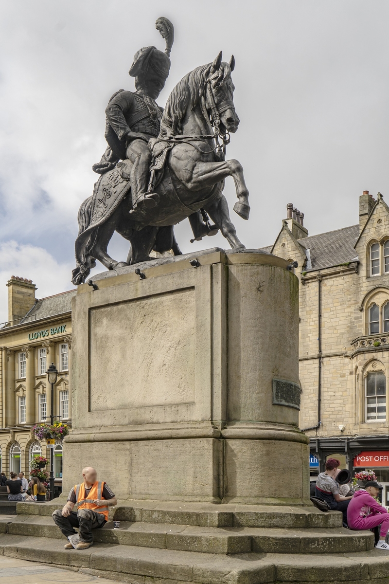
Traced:
<path fill-rule="evenodd" d="M 237 160 L 224 159 L 229 133 L 236 132 L 239 125 L 233 103 L 233 69 L 234 57 L 223 62 L 220 52 L 212 63 L 185 75 L 171 92 L 159 137 L 149 143 L 155 156 L 152 188 L 159 195 L 155 207 L 132 210 L 129 160 L 119 162 L 97 181 L 78 214 L 73 284 L 85 281 L 96 259 L 113 270 L 152 259 L 152 250 L 173 249 L 175 255 L 180 254 L 173 225 L 199 210 L 205 217 L 209 214 L 233 249 L 244 249 L 223 196 L 224 179 L 232 176 L 238 197 L 234 211 L 248 219 L 243 168 Z M 127 263 L 117 262 L 107 253 L 114 231 L 131 242 Z"/>

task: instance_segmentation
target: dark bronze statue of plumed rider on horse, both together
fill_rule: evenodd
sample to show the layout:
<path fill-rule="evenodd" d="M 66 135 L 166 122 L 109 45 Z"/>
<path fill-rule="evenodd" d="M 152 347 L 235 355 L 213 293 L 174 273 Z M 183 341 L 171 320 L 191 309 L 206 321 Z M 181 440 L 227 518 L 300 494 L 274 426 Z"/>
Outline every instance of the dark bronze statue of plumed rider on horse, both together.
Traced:
<path fill-rule="evenodd" d="M 230 133 L 239 125 L 234 57 L 223 62 L 220 52 L 185 75 L 162 110 L 155 99 L 169 74 L 173 26 L 162 18 L 156 27 L 166 39 L 165 53 L 155 47 L 138 51 L 129 71 L 136 92 L 121 90 L 107 106 L 108 147 L 93 167 L 101 174 L 93 195 L 79 210 L 73 284 L 85 281 L 96 259 L 111 270 L 153 259 L 152 251 L 179 255 L 173 225 L 187 217 L 194 239 L 220 230 L 233 249 L 244 249 L 223 196 L 224 179 L 232 176 L 234 211 L 248 219 L 243 169 L 237 160 L 225 160 Z M 107 253 L 114 231 L 131 242 L 127 262 Z"/>

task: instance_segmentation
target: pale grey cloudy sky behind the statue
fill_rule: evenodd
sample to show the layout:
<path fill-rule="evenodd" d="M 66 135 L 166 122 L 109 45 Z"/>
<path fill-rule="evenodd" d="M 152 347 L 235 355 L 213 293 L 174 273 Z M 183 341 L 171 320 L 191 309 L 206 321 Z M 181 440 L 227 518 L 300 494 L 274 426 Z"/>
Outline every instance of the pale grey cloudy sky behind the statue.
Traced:
<path fill-rule="evenodd" d="M 33 279 L 37 296 L 69 289 L 76 215 L 92 193 L 104 151 L 104 109 L 134 88 L 136 50 L 175 27 L 164 105 L 174 85 L 220 50 L 233 53 L 241 124 L 227 157 L 243 165 L 250 220 L 232 211 L 247 247 L 271 244 L 286 203 L 311 235 L 358 222 L 358 197 L 389 200 L 387 0 L 0 0 L 0 321 L 10 275 Z M 183 252 L 226 247 L 220 236 Z M 197 247 L 195 247 L 195 245 Z M 109 251 L 124 260 L 128 242 Z M 99 265 L 95 272 L 102 271 Z"/>

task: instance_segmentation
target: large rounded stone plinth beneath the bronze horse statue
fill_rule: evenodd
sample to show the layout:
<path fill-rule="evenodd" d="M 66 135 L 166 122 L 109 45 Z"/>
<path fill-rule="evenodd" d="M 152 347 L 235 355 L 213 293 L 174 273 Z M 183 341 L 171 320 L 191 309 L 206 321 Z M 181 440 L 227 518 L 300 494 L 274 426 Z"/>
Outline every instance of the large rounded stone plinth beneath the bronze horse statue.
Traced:
<path fill-rule="evenodd" d="M 286 267 L 215 248 L 79 286 L 64 492 L 92 465 L 120 499 L 310 505 Z"/>

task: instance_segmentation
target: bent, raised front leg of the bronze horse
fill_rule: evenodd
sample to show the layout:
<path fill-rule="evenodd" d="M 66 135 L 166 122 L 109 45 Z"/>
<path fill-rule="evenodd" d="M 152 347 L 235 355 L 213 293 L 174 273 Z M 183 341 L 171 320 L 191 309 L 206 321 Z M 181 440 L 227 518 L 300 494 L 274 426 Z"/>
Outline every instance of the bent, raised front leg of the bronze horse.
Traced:
<path fill-rule="evenodd" d="M 200 190 L 207 186 L 213 186 L 227 176 L 232 176 L 236 188 L 236 196 L 239 201 L 234 205 L 234 211 L 242 219 L 248 219 L 250 205 L 248 204 L 248 190 L 244 182 L 243 168 L 235 159 L 222 162 L 196 162 L 193 168 L 190 182 L 191 190 Z"/>

